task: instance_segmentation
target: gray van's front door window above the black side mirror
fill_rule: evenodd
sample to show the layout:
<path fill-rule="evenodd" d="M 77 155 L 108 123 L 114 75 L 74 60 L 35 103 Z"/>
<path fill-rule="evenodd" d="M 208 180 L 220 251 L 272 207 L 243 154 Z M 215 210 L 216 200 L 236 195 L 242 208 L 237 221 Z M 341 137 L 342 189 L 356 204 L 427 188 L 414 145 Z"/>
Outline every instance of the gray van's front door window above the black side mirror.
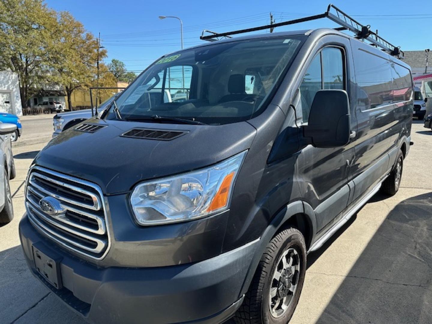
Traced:
<path fill-rule="evenodd" d="M 300 85 L 303 122 L 309 120 L 315 94 L 322 89 L 345 89 L 344 57 L 340 48 L 326 47 L 311 62 Z"/>

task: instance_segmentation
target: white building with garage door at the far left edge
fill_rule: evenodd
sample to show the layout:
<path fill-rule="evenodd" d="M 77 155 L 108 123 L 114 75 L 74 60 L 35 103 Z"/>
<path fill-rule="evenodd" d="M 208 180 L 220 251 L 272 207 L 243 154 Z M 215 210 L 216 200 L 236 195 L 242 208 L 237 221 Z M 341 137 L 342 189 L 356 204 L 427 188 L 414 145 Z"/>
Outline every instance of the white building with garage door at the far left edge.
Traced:
<path fill-rule="evenodd" d="M 0 71 L 0 112 L 22 116 L 18 74 L 15 72 Z"/>

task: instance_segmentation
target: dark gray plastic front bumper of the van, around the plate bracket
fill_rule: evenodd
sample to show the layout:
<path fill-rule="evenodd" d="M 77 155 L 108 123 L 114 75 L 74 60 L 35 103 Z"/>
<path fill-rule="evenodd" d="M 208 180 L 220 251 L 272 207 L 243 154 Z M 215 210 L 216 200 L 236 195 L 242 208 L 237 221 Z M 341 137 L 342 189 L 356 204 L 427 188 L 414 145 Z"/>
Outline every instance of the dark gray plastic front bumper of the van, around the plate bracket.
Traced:
<path fill-rule="evenodd" d="M 154 268 L 101 268 L 60 250 L 25 215 L 19 224 L 32 273 L 87 321 L 97 323 L 222 323 L 240 295 L 258 241 L 204 261 Z M 32 245 L 60 257 L 62 289 L 36 271 Z"/>

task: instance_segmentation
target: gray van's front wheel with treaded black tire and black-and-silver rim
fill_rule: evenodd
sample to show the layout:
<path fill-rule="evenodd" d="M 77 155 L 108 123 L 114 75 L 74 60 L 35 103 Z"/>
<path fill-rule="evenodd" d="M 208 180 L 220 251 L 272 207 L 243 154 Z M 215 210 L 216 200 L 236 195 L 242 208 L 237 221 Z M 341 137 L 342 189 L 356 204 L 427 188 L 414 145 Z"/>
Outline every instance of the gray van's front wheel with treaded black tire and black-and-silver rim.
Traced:
<path fill-rule="evenodd" d="M 289 254 L 291 255 L 289 256 Z M 295 254 L 297 253 L 297 254 Z M 285 255 L 286 254 L 286 255 Z M 284 270 L 283 258 L 291 267 L 297 267 L 298 261 L 299 269 Z M 296 259 L 295 259 L 296 257 Z M 297 260 L 297 261 L 294 261 Z M 281 262 L 283 264 L 281 264 Z M 282 267 L 281 267 L 282 266 Z M 279 279 L 276 279 L 276 272 Z M 279 232 L 267 245 L 267 248 L 261 257 L 260 263 L 254 274 L 248 292 L 245 295 L 243 304 L 235 314 L 234 321 L 237 324 L 286 324 L 291 319 L 295 307 L 299 302 L 300 293 L 302 291 L 303 282 L 306 273 L 306 245 L 305 238 L 302 233 L 295 228 L 285 229 Z M 292 292 L 289 287 L 296 288 Z M 277 287 L 277 288 L 276 288 Z M 273 291 L 274 296 L 271 297 Z M 288 295 L 284 295 L 288 293 Z M 273 312 L 277 305 L 282 305 L 285 296 L 289 303 L 286 309 L 281 308 L 281 314 L 275 316 Z M 279 300 L 279 302 L 275 302 Z M 272 307 L 272 305 L 274 305 Z M 273 311 L 270 310 L 273 308 Z M 277 309 L 276 309 L 277 311 Z M 277 314 L 276 314 L 277 315 Z"/>

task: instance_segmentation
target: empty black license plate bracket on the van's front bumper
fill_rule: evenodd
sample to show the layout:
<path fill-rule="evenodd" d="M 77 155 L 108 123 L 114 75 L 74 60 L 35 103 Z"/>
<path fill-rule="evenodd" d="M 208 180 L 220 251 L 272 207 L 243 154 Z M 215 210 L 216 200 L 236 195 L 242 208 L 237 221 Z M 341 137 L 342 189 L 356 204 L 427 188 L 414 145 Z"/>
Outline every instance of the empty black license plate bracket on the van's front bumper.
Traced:
<path fill-rule="evenodd" d="M 61 289 L 63 287 L 60 276 L 61 257 L 48 257 L 48 255 L 44 254 L 34 245 L 32 246 L 32 249 L 36 270 L 38 270 L 40 275 L 48 281 L 48 283 L 57 289 Z"/>

